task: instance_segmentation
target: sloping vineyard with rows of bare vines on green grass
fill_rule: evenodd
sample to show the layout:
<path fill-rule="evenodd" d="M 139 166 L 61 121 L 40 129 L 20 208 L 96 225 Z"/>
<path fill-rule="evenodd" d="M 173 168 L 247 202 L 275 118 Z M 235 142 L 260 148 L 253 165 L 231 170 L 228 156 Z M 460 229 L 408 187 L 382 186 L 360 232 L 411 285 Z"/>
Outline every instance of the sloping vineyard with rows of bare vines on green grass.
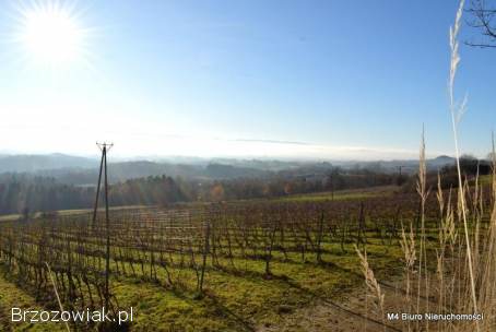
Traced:
<path fill-rule="evenodd" d="M 401 232 L 420 227 L 420 206 L 416 194 L 391 192 L 116 210 L 108 225 L 103 213 L 95 223 L 85 213 L 2 222 L 1 269 L 46 308 L 58 307 L 54 284 L 64 309 L 133 306 L 133 331 L 255 331 L 359 285 L 355 246 L 378 275 L 400 275 Z M 442 211 L 434 195 L 425 206 L 427 238 L 437 240 Z"/>

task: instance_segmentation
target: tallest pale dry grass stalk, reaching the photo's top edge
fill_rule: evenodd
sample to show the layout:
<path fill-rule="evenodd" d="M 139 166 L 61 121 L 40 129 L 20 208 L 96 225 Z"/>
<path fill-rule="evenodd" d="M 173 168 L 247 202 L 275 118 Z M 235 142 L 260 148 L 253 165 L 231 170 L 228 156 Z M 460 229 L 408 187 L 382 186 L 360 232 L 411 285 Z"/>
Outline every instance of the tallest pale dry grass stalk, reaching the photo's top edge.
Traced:
<path fill-rule="evenodd" d="M 450 71 L 449 71 L 449 81 L 448 81 L 448 92 L 449 92 L 449 108 L 451 114 L 451 123 L 453 130 L 453 140 L 454 140 L 454 156 L 457 163 L 457 170 L 458 170 L 458 185 L 459 185 L 459 197 L 460 197 L 460 210 L 461 216 L 463 221 L 463 229 L 464 229 L 464 237 L 465 237 L 465 247 L 467 247 L 467 260 L 469 264 L 469 276 L 470 276 L 470 289 L 471 289 L 471 297 L 472 297 L 472 306 L 474 312 L 479 312 L 477 310 L 477 297 L 475 293 L 475 277 L 474 277 L 474 266 L 472 261 L 472 247 L 470 245 L 470 236 L 469 236 L 469 225 L 468 225 L 468 212 L 467 212 L 467 202 L 464 195 L 464 183 L 462 181 L 461 176 L 461 167 L 460 167 L 460 149 L 458 144 L 458 124 L 467 109 L 467 96 L 463 98 L 462 103 L 457 103 L 454 100 L 454 78 L 457 75 L 458 66 L 460 63 L 460 54 L 459 54 L 459 42 L 458 35 L 460 33 L 460 25 L 461 25 L 461 17 L 463 13 L 464 0 L 460 1 L 460 5 L 457 11 L 457 15 L 454 17 L 454 25 L 449 29 L 449 45 L 451 50 L 451 58 L 450 58 Z M 479 331 L 479 322 L 476 321 L 476 329 Z"/>

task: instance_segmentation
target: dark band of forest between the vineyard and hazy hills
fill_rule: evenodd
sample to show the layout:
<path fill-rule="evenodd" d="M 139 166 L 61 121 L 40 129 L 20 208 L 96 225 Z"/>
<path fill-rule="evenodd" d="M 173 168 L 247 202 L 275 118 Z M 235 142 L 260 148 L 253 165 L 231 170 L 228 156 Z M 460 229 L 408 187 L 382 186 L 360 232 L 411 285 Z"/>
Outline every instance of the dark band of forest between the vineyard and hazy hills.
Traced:
<path fill-rule="evenodd" d="M 362 170 L 349 174 L 334 168 L 327 176 L 292 178 L 237 178 L 192 181 L 149 176 L 109 186 L 109 204 L 166 205 L 177 202 L 273 198 L 351 188 L 391 185 L 398 177 Z M 0 214 L 92 208 L 95 187 L 63 185 L 29 174 L 0 175 Z"/>

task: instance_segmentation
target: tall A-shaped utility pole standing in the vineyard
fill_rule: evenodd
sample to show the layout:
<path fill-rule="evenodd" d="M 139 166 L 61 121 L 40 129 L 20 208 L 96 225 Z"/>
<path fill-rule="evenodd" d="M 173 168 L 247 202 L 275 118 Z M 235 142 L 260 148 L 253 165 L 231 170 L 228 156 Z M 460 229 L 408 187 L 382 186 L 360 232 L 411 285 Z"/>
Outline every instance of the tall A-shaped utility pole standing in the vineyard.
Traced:
<path fill-rule="evenodd" d="M 107 152 L 114 146 L 108 143 L 96 143 L 102 151 L 102 161 L 99 163 L 98 183 L 96 186 L 95 209 L 93 210 L 93 225 L 96 222 L 96 212 L 98 210 L 98 198 L 102 185 L 102 171 L 104 171 L 104 201 L 105 201 L 105 236 L 106 236 L 106 252 L 105 252 L 105 308 L 108 310 L 109 292 L 108 292 L 108 277 L 110 274 L 110 221 L 108 216 L 108 179 L 107 179 Z"/>

